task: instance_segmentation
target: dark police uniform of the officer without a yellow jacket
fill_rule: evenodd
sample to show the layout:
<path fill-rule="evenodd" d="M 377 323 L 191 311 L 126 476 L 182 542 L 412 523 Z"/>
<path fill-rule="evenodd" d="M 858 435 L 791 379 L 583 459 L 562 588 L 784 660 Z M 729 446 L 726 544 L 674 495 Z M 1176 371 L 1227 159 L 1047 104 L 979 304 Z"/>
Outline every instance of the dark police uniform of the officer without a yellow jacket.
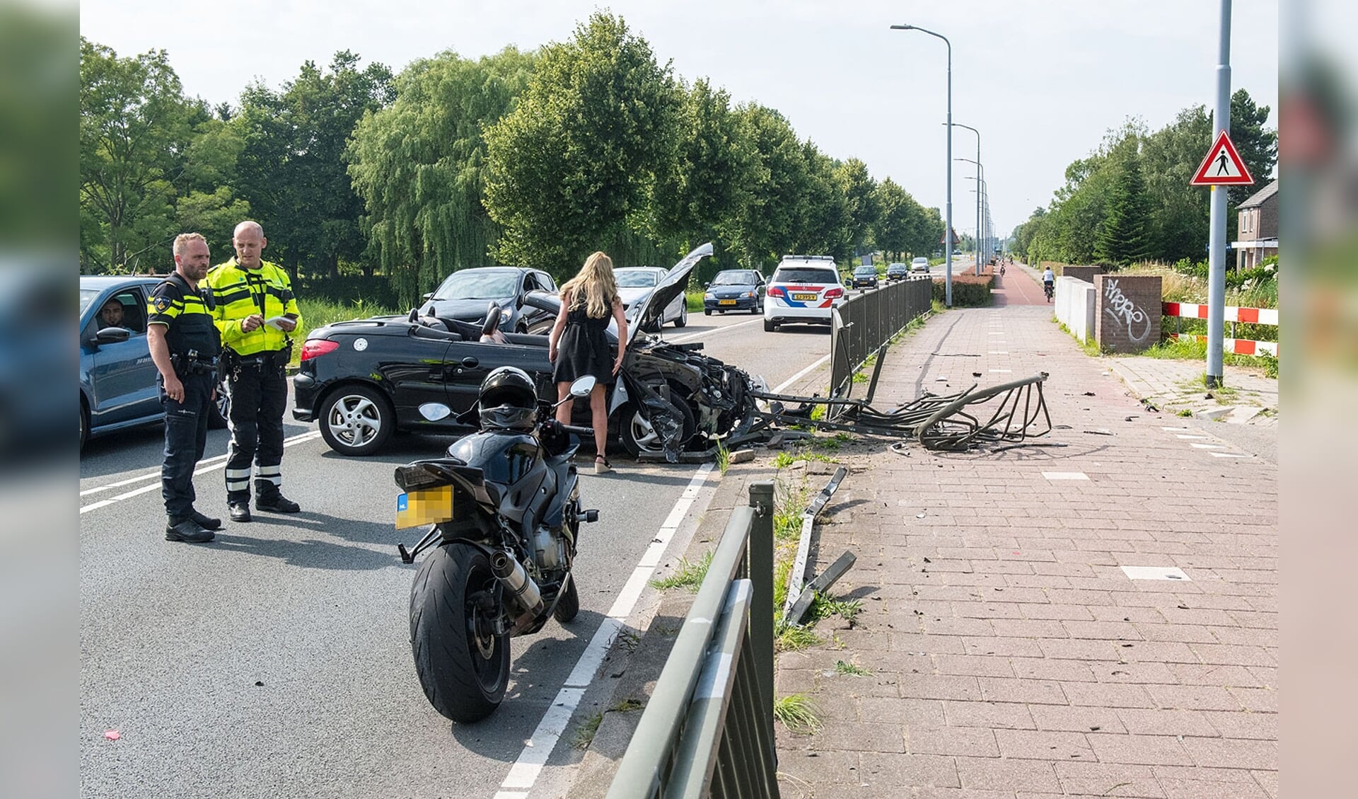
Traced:
<path fill-rule="evenodd" d="M 183 383 L 183 399 L 166 395 L 160 385 L 160 404 L 166 410 L 166 451 L 160 467 L 160 493 L 166 514 L 174 526 L 194 518 L 193 469 L 202 459 L 208 443 L 208 417 L 212 390 L 217 385 L 217 356 L 221 338 L 212 321 L 212 295 L 196 292 L 178 273 L 151 292 L 147 322 L 166 325 L 166 342 L 175 376 Z"/>

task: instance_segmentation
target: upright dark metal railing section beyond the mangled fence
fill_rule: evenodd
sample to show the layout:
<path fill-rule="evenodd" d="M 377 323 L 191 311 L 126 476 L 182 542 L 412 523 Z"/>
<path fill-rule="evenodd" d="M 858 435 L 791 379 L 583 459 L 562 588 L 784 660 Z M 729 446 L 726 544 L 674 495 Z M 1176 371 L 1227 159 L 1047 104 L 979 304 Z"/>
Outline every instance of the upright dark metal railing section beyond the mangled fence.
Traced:
<path fill-rule="evenodd" d="M 831 311 L 830 394 L 849 397 L 853 372 L 932 307 L 933 279 L 910 277 L 846 299 Z"/>

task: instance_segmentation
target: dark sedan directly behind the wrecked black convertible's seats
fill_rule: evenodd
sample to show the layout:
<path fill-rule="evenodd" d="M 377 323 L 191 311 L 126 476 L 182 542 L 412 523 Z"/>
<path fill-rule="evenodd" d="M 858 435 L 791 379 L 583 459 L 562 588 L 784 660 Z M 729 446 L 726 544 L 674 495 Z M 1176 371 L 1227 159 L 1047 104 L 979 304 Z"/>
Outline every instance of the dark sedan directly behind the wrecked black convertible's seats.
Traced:
<path fill-rule="evenodd" d="M 501 323 L 505 333 L 545 333 L 551 329 L 555 318 L 540 308 L 524 307 L 523 299 L 534 291 L 555 292 L 557 284 L 540 269 L 459 269 L 424 296 L 426 302 L 420 314 L 481 323 L 493 302 L 509 311 L 509 318 Z"/>

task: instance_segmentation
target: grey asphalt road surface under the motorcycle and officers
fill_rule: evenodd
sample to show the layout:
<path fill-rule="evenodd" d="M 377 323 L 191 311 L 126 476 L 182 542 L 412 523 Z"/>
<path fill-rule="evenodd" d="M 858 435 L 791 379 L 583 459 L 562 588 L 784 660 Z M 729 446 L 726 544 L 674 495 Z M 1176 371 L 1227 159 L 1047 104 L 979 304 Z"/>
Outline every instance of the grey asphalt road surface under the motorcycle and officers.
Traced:
<path fill-rule="evenodd" d="M 765 333 L 747 314 L 694 314 L 664 336 L 701 340 L 770 387 L 830 351 L 828 327 Z M 291 419 L 285 429 L 284 492 L 303 512 L 228 522 L 198 546 L 163 539 L 159 427 L 87 444 L 83 796 L 490 799 L 697 472 L 621 462 L 615 474 L 583 477 L 585 505 L 602 518 L 581 537 L 580 616 L 516 639 L 505 704 L 486 722 L 452 726 L 428 705 L 411 666 L 406 603 L 417 567 L 403 565 L 395 545 L 418 533 L 392 529 L 391 472 L 454 439 L 397 436 L 379 455 L 342 458 L 314 431 Z M 223 516 L 227 440 L 225 431 L 209 435 L 196 478 L 200 510 Z M 671 550 L 683 544 L 676 537 Z"/>

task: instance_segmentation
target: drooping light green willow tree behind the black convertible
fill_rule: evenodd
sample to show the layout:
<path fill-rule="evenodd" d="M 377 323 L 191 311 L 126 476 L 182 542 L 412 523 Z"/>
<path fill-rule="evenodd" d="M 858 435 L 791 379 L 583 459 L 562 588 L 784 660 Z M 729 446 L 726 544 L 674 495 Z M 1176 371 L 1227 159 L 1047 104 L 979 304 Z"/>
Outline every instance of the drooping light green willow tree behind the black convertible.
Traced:
<path fill-rule="evenodd" d="M 349 177 L 402 303 L 489 262 L 500 226 L 482 202 L 482 132 L 511 111 L 532 69 L 534 56 L 513 48 L 477 61 L 452 52 L 418 60 L 397 76 L 395 101 L 354 128 Z"/>

